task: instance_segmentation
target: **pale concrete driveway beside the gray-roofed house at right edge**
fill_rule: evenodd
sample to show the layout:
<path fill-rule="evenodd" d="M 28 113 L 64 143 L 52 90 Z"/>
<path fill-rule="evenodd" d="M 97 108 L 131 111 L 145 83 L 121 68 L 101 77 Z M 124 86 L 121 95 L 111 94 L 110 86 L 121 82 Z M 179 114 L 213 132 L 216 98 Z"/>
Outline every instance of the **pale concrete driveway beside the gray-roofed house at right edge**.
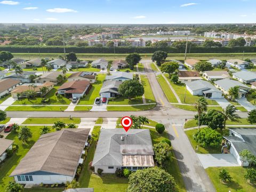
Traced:
<path fill-rule="evenodd" d="M 207 167 L 240 166 L 232 154 L 197 154 L 204 169 Z"/>

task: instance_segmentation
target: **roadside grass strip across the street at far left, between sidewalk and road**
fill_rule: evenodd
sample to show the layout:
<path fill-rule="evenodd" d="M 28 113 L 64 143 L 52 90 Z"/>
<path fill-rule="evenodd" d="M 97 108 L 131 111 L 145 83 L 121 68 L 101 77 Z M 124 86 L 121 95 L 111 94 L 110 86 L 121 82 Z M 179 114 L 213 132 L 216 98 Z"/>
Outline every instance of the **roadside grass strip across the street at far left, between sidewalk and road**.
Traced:
<path fill-rule="evenodd" d="M 68 107 L 65 106 L 10 106 L 5 111 L 64 111 Z"/>

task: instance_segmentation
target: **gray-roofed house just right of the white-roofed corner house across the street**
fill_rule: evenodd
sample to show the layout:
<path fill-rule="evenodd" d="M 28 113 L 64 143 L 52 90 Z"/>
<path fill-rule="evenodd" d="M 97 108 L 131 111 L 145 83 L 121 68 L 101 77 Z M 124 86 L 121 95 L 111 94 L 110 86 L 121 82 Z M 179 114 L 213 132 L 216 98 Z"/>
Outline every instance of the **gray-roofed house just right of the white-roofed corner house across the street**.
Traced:
<path fill-rule="evenodd" d="M 221 79 L 215 81 L 214 84 L 218 89 L 220 89 L 225 94 L 228 94 L 228 90 L 231 87 L 239 86 L 239 98 L 245 98 L 247 92 L 251 89 L 249 86 L 238 81 L 234 81 L 232 79 Z"/>

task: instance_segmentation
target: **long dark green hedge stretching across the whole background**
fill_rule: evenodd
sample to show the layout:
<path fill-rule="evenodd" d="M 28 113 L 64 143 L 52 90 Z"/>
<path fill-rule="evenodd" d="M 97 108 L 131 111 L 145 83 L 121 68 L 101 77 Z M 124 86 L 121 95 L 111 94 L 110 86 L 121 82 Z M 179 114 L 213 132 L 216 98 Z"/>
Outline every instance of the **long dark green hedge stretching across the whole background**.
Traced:
<path fill-rule="evenodd" d="M 165 51 L 167 53 L 184 53 L 184 49 L 177 49 L 175 47 L 115 47 L 115 53 L 154 53 L 155 51 Z M 0 46 L 0 51 L 10 51 L 11 53 L 63 53 L 63 46 L 22 46 L 10 45 Z M 256 52 L 256 46 L 250 47 L 191 47 L 190 53 L 252 53 Z M 114 53 L 113 47 L 77 47 L 66 46 L 66 52 L 75 53 Z"/>

